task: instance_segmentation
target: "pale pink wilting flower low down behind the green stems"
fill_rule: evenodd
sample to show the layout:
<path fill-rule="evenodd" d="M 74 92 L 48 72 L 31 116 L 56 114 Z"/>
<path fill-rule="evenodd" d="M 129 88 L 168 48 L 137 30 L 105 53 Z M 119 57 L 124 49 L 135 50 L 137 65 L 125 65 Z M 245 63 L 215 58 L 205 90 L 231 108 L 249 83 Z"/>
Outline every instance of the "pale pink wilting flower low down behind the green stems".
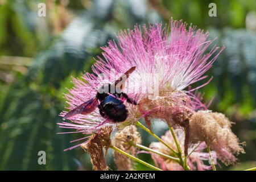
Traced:
<path fill-rule="evenodd" d="M 174 130 L 176 134 L 176 139 L 177 142 L 181 146 L 181 150 L 184 150 L 184 131 L 181 129 L 176 129 Z M 174 142 L 174 138 L 171 135 L 171 131 L 167 131 L 165 135 L 163 135 L 162 140 L 166 142 L 171 148 L 176 148 L 176 144 Z M 189 152 L 192 152 L 192 150 L 196 147 L 197 145 L 192 145 L 189 148 Z M 164 146 L 164 144 L 160 142 L 152 142 L 150 144 L 150 148 L 152 148 L 155 151 L 162 152 L 163 154 L 170 155 L 170 156 L 175 156 L 172 151 Z M 206 148 L 205 143 L 201 143 L 198 147 L 196 147 L 195 151 L 189 155 L 189 158 L 187 159 L 188 166 L 191 168 L 191 170 L 199 170 L 199 171 L 204 171 L 204 170 L 209 170 L 212 168 L 211 164 L 209 166 L 206 165 L 207 162 L 204 163 L 204 160 L 209 161 L 209 154 L 207 152 L 203 152 L 203 150 Z M 163 156 L 154 154 L 151 152 L 152 159 L 154 160 L 156 166 L 158 167 L 160 165 L 160 168 L 163 170 L 168 170 L 168 171 L 183 171 L 183 167 L 180 166 L 180 164 L 164 158 Z M 183 154 L 184 156 L 184 154 Z"/>

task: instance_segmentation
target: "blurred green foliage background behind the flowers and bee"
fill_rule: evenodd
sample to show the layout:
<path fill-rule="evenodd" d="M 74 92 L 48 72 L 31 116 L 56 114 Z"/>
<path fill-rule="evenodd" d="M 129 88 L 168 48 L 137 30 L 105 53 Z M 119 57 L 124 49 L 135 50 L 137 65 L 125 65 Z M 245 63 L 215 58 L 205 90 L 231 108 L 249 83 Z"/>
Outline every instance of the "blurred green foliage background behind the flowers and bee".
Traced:
<path fill-rule="evenodd" d="M 38 4 L 46 3 L 46 17 L 38 16 Z M 217 16 L 210 17 L 209 3 Z M 184 0 L 0 0 L 0 169 L 90 170 L 89 155 L 69 141 L 77 134 L 58 135 L 58 116 L 67 104 L 65 88 L 71 76 L 90 72 L 100 46 L 115 33 L 136 23 L 183 19 L 208 30 L 225 50 L 207 75 L 213 80 L 201 88 L 204 101 L 214 100 L 210 110 L 225 113 L 235 122 L 232 130 L 246 142 L 246 154 L 236 166 L 256 166 L 256 1 Z M 196 86 L 196 85 L 192 85 Z M 163 123 L 156 133 L 167 130 Z M 152 138 L 142 132 L 143 144 Z M 146 139 L 146 140 L 145 140 Z M 46 151 L 46 165 L 38 164 L 38 152 Z M 111 169 L 111 150 L 107 156 Z M 148 154 L 139 158 L 152 163 Z M 147 169 L 137 165 L 138 169 Z"/>

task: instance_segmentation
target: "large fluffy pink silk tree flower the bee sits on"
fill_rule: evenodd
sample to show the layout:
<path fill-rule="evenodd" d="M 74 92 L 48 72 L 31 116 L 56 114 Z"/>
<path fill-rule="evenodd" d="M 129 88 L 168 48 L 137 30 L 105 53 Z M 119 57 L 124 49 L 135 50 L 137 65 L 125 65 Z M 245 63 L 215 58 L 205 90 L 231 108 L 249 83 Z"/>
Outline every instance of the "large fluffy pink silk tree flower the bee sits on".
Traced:
<path fill-rule="evenodd" d="M 77 130 L 68 133 L 92 134 L 101 127 L 113 126 L 115 130 L 137 122 L 142 117 L 148 118 L 148 125 L 149 120 L 154 118 L 172 126 L 181 123 L 181 120 L 201 108 L 192 92 L 208 84 L 210 80 L 197 88 L 188 91 L 184 89 L 206 78 L 204 73 L 212 67 L 224 49 L 217 52 L 218 47 L 213 46 L 205 53 L 214 41 L 209 40 L 208 36 L 208 32 L 196 30 L 195 26 L 187 28 L 187 23 L 182 20 L 170 20 L 166 26 L 155 23 L 121 31 L 117 35 L 117 41 L 110 40 L 108 46 L 102 47 L 103 57 L 98 56 L 96 59 L 92 74 L 84 73 L 80 79 L 73 78 L 73 88 L 64 94 L 69 105 L 66 109 L 72 110 L 96 96 L 97 89 L 102 84 L 114 82 L 134 66 L 136 69 L 127 80 L 123 92 L 137 101 L 139 107 L 125 101 L 129 114 L 126 121 L 121 123 L 102 118 L 96 109 L 87 115 L 74 115 L 69 118 L 71 122 L 58 124 L 60 127 Z M 64 117 L 67 112 L 64 110 L 60 116 Z"/>

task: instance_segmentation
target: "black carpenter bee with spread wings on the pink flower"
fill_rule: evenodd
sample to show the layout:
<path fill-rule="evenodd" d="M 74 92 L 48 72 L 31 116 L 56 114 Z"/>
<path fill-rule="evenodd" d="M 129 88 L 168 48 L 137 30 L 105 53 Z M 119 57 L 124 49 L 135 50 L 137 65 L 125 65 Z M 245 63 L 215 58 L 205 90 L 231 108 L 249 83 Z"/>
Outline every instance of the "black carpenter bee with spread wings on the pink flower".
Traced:
<path fill-rule="evenodd" d="M 125 72 L 118 80 L 115 80 L 112 84 L 105 84 L 98 89 L 96 97 L 84 102 L 75 109 L 69 111 L 63 119 L 67 119 L 76 114 L 89 114 L 92 113 L 97 107 L 100 110 L 100 114 L 104 118 L 108 118 L 113 122 L 122 122 L 128 116 L 128 110 L 123 104 L 121 97 L 125 98 L 130 104 L 137 105 L 134 100 L 131 100 L 126 93 L 122 92 L 125 86 L 125 82 L 129 75 L 135 70 L 136 67 L 131 67 Z M 106 91 L 106 92 L 104 92 Z M 100 104 L 98 104 L 100 101 Z"/>

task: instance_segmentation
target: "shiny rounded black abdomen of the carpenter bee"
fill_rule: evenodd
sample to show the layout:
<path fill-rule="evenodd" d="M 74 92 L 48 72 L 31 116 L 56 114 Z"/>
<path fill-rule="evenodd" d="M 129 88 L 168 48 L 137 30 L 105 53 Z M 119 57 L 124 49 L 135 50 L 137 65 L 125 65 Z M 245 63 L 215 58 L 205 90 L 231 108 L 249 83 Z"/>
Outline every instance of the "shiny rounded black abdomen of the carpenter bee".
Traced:
<path fill-rule="evenodd" d="M 113 96 L 108 96 L 101 102 L 104 114 L 114 122 L 122 122 L 128 116 L 128 111 L 121 100 Z"/>

